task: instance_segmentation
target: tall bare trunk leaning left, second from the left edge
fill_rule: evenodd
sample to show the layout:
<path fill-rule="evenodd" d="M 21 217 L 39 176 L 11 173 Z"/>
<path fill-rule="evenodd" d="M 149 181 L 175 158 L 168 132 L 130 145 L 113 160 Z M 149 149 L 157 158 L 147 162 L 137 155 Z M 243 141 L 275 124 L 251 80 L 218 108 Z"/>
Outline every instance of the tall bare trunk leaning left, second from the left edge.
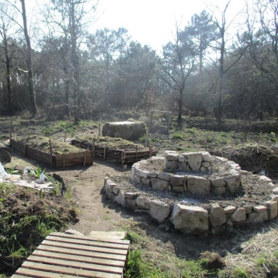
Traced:
<path fill-rule="evenodd" d="M 24 36 L 25 36 L 26 47 L 27 47 L 26 64 L 28 70 L 28 92 L 30 97 L 31 113 L 33 116 L 35 116 L 35 114 L 37 113 L 37 105 L 35 103 L 35 91 L 34 91 L 34 84 L 33 84 L 32 49 L 31 49 L 31 42 L 27 30 L 25 2 L 24 0 L 20 0 L 20 1 L 22 2 L 22 19 L 24 25 Z"/>

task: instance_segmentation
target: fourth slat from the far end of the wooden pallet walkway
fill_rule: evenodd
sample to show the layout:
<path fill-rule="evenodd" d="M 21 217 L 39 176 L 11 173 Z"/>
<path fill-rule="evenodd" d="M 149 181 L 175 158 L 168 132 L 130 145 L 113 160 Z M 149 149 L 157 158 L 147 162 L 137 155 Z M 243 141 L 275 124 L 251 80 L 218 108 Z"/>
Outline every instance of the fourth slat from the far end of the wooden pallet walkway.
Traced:
<path fill-rule="evenodd" d="M 47 245 L 40 245 L 37 250 L 42 251 L 49 251 L 49 252 L 57 252 L 61 254 L 76 254 L 76 255 L 82 255 L 82 256 L 90 256 L 95 257 L 99 259 L 105 259 L 107 258 L 107 253 L 101 253 L 101 252 L 90 252 L 85 250 L 72 250 L 69 248 L 63 248 L 63 247 L 55 247 L 55 246 L 47 246 Z M 118 254 L 109 254 L 109 259 L 111 260 L 118 260 L 118 261 L 125 261 L 126 256 L 125 255 L 118 255 Z"/>

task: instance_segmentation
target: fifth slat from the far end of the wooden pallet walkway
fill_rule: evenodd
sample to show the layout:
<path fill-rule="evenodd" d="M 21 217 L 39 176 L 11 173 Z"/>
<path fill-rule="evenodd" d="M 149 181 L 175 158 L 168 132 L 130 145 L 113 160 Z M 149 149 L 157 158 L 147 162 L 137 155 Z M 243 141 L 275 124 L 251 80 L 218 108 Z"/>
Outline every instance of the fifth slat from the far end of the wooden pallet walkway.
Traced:
<path fill-rule="evenodd" d="M 124 267 L 124 261 L 117 261 L 113 259 L 99 259 L 94 256 L 83 256 L 83 254 L 60 254 L 56 252 L 47 252 L 42 250 L 35 250 L 32 253 L 34 256 L 45 256 L 53 259 L 63 259 L 68 261 L 82 261 L 84 263 L 98 263 L 99 265 L 111 265 L 116 267 Z"/>

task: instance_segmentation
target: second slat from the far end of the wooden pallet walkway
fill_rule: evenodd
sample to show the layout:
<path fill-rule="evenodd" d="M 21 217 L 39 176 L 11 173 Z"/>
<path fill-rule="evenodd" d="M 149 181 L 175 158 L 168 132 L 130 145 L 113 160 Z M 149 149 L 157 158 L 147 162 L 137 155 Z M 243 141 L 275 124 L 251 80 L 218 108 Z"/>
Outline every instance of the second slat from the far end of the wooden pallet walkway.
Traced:
<path fill-rule="evenodd" d="M 101 240 L 93 240 L 92 238 L 88 239 L 79 239 L 79 238 L 62 238 L 60 236 L 47 236 L 45 240 L 50 240 L 51 242 L 60 242 L 60 243 L 71 243 L 76 245 L 89 245 L 89 246 L 97 246 L 97 247 L 103 247 L 103 248 L 114 248 L 114 249 L 120 249 L 125 250 L 126 246 L 119 243 L 106 243 Z"/>

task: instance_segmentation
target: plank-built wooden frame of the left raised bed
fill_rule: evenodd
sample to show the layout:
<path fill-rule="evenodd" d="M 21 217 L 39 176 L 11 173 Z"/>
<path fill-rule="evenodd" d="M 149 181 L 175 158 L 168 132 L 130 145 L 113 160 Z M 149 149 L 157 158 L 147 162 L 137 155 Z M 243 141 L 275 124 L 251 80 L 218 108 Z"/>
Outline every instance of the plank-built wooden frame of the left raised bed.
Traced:
<path fill-rule="evenodd" d="M 68 167 L 72 165 L 85 165 L 93 163 L 92 152 L 89 149 L 79 149 L 77 147 L 71 147 L 68 149 L 68 144 L 63 142 L 57 142 L 56 140 L 49 139 L 49 146 L 44 148 L 44 150 L 38 149 L 38 147 L 31 147 L 28 140 L 15 140 L 10 139 L 10 144 L 13 149 L 34 159 L 35 161 L 40 161 L 47 163 L 51 167 Z M 53 145 L 60 145 L 67 149 L 67 152 L 56 153 L 52 149 Z M 49 152 L 47 150 L 49 149 Z"/>

